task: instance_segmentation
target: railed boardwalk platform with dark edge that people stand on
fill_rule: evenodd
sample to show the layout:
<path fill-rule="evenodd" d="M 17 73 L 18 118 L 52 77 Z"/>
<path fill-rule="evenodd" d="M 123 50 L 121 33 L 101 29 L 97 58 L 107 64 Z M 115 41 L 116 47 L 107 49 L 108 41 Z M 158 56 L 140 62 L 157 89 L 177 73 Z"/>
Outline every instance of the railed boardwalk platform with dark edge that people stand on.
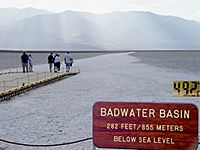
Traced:
<path fill-rule="evenodd" d="M 7 100 L 15 95 L 28 90 L 64 79 L 66 77 L 80 73 L 78 67 L 73 68 L 71 72 L 38 72 L 21 73 L 10 72 L 0 75 L 0 101 Z"/>

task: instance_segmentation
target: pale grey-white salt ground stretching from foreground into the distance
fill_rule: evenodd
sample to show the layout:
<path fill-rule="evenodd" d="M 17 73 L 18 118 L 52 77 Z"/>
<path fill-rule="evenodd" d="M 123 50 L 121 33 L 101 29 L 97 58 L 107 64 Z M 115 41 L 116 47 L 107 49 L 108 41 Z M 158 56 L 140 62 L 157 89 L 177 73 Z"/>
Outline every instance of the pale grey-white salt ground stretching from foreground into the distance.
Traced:
<path fill-rule="evenodd" d="M 52 144 L 92 136 L 96 101 L 183 102 L 200 106 L 199 98 L 174 97 L 173 80 L 198 80 L 192 73 L 134 63 L 127 53 L 77 60 L 79 75 L 31 90 L 0 103 L 1 138 Z M 47 65 L 37 66 L 41 70 Z M 0 143 L 8 150 L 92 150 L 92 141 L 63 147 L 28 148 Z"/>

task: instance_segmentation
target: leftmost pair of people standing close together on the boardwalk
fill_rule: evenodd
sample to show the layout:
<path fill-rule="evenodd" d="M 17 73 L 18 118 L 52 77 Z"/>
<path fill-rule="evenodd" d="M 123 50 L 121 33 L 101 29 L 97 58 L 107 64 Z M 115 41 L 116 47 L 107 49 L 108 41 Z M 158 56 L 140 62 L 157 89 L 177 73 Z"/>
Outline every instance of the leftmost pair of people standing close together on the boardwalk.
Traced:
<path fill-rule="evenodd" d="M 21 62 L 22 62 L 23 73 L 33 72 L 33 61 L 31 54 L 23 52 L 23 54 L 21 55 Z"/>

